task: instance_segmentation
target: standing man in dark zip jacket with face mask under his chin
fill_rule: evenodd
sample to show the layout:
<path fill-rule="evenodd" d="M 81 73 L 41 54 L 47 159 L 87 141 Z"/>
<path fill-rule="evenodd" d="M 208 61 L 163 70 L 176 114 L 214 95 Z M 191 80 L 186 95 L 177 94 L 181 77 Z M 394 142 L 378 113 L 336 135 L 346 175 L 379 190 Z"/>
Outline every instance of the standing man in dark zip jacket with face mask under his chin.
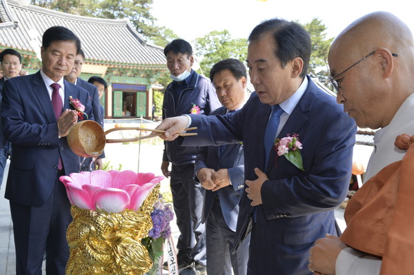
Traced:
<path fill-rule="evenodd" d="M 194 57 L 190 43 L 175 39 L 164 48 L 164 54 L 173 81 L 164 94 L 163 119 L 190 113 L 208 115 L 221 106 L 211 81 L 191 69 Z M 206 274 L 205 233 L 201 223 L 203 195 L 200 183 L 193 179 L 197 147 L 181 147 L 178 141 L 165 141 L 164 145 L 161 171 L 171 177 L 172 202 L 180 232 L 177 242 L 180 274 Z"/>

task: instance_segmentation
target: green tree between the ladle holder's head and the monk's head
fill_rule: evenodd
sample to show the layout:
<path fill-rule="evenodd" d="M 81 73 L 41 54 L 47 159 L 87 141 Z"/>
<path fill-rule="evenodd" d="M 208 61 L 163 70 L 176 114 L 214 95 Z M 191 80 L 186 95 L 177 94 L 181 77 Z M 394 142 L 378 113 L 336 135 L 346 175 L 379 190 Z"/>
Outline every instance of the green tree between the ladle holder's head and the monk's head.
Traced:
<path fill-rule="evenodd" d="M 322 83 L 328 83 L 328 53 L 333 38 L 326 38 L 326 26 L 320 19 L 314 18 L 311 22 L 301 24 L 311 34 L 311 61 L 308 74 L 317 77 Z"/>

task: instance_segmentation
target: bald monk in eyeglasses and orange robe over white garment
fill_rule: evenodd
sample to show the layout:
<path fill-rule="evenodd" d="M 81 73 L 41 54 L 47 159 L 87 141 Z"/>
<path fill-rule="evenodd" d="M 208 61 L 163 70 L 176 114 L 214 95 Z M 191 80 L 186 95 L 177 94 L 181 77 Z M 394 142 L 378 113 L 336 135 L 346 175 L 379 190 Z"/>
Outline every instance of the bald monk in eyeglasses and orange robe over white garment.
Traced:
<path fill-rule="evenodd" d="M 316 274 L 327 275 L 412 274 L 413 255 L 406 247 L 412 247 L 414 241 L 413 235 L 405 232 L 414 231 L 414 223 L 408 213 L 413 205 L 402 205 L 401 198 L 404 196 L 398 193 L 395 205 L 388 203 L 393 201 L 392 192 L 388 191 L 382 197 L 380 192 L 384 193 L 384 187 L 389 186 L 387 183 L 390 178 L 382 179 L 383 185 L 377 192 L 372 192 L 371 186 L 377 186 L 373 183 L 378 182 L 379 175 L 384 178 L 384 172 L 390 169 L 390 164 L 395 165 L 406 155 L 406 150 L 395 147 L 396 136 L 414 134 L 413 34 L 393 14 L 373 12 L 357 19 L 339 34 L 331 46 L 328 62 L 332 82 L 337 90 L 337 102 L 344 105 L 344 112 L 353 117 L 359 127 L 380 130 L 375 132 L 375 149 L 366 169 L 366 183 L 358 191 L 359 194 L 356 193 L 358 197 L 353 199 L 359 201 L 361 195 L 366 194 L 366 190 L 371 193 L 357 207 L 351 223 L 348 223 L 340 238 L 327 236 L 315 243 L 310 251 L 309 269 L 319 272 L 315 272 Z M 400 178 L 395 184 L 391 181 L 389 183 L 400 188 L 404 184 L 402 179 L 405 174 L 400 172 L 398 176 Z M 380 205 L 384 206 L 375 207 L 373 210 L 369 204 L 372 205 L 377 198 L 381 198 Z M 348 203 L 346 214 L 353 212 L 353 207 L 350 207 L 352 201 L 351 199 Z M 402 209 L 404 213 L 397 212 Z M 364 221 L 358 221 L 357 214 L 362 212 L 368 215 Z M 404 221 L 397 215 L 400 213 Z M 375 222 L 367 221 L 371 216 L 376 217 Z M 390 216 L 391 225 L 386 223 Z M 347 230 L 355 226 L 359 228 L 357 234 L 348 234 Z M 386 236 L 380 235 L 383 231 Z M 359 239 L 360 236 L 364 239 Z M 377 236 L 384 237 L 377 241 Z M 359 241 L 355 243 L 355 240 Z M 398 246 L 397 252 L 393 249 L 395 245 Z M 376 249 L 368 252 L 365 249 L 368 246 Z"/>

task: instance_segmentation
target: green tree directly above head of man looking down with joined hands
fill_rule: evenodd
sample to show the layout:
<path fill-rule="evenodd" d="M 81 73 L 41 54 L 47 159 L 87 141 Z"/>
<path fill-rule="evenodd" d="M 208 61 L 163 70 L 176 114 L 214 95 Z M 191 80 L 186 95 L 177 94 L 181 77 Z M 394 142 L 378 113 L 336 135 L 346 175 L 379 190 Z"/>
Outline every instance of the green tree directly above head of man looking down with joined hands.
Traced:
<path fill-rule="evenodd" d="M 211 67 L 220 60 L 234 58 L 246 61 L 247 40 L 233 39 L 228 30 L 213 30 L 195 39 L 195 52 L 201 59 L 202 72 L 208 77 Z"/>

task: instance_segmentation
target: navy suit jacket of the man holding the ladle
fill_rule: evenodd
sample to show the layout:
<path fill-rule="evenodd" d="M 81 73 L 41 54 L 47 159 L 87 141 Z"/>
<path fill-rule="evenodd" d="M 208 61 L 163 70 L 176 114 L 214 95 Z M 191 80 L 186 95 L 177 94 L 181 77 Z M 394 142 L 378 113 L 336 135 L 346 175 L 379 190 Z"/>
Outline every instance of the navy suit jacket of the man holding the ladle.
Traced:
<path fill-rule="evenodd" d="M 308 81 L 306 92 L 278 136 L 299 134 L 304 171 L 286 157 L 276 157 L 275 150 L 265 170 L 264 132 L 270 105 L 261 103 L 256 93 L 233 114 L 190 115 L 191 126 L 199 129 L 198 136 L 186 137 L 183 145 L 243 141 L 246 179 L 257 179 L 255 167 L 268 175 L 255 222 L 246 192 L 240 203 L 236 244 L 253 224 L 249 274 L 311 274 L 308 249 L 326 233 L 337 234 L 333 209 L 348 191 L 356 126 L 333 96 L 317 88 L 310 78 Z"/>

